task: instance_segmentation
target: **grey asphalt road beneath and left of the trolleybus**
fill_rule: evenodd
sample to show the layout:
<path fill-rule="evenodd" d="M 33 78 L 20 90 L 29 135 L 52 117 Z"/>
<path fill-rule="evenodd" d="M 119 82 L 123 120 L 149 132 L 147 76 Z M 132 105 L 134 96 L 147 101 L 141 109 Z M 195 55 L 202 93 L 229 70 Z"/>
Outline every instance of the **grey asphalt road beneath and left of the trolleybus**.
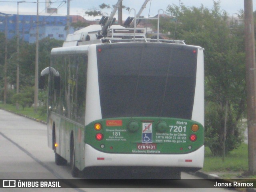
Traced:
<path fill-rule="evenodd" d="M 46 125 L 0 110 L 0 179 L 74 179 L 70 166 L 56 166 L 54 153 L 47 146 Z M 182 173 L 185 180 L 76 180 L 83 188 L 0 188 L 0 191 L 227 191 L 222 188 L 197 188 L 208 181 Z M 200 180 L 199 180 L 200 181 Z M 203 185 L 202 185 L 203 186 Z M 85 188 L 84 188 L 85 187 Z M 171 188 L 170 188 L 171 187 Z"/>

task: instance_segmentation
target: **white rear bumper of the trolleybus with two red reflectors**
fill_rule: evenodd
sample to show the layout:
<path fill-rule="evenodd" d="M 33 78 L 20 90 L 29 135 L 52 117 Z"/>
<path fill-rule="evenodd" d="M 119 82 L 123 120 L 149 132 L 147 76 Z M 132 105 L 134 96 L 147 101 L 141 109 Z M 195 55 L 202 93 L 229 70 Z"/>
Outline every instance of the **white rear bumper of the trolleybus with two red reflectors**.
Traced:
<path fill-rule="evenodd" d="M 114 154 L 104 153 L 85 144 L 84 164 L 96 166 L 159 166 L 180 168 L 202 168 L 204 145 L 188 154 Z"/>

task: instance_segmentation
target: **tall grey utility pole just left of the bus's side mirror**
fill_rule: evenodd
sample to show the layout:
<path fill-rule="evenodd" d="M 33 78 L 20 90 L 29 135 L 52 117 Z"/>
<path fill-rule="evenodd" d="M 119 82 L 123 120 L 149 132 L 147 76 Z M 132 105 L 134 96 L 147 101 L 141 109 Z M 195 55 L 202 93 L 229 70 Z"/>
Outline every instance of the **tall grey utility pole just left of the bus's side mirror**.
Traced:
<path fill-rule="evenodd" d="M 35 64 L 35 92 L 34 92 L 34 110 L 37 111 L 38 106 L 38 48 L 39 48 L 39 16 L 38 16 L 38 0 L 36 6 L 36 64 Z"/>

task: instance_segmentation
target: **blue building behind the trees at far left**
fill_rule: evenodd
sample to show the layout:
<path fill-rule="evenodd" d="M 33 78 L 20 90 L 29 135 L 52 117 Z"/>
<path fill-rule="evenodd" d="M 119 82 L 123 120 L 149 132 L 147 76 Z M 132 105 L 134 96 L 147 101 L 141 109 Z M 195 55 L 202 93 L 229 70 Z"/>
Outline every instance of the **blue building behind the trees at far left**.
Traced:
<path fill-rule="evenodd" d="M 67 16 L 56 13 L 40 13 L 39 16 L 39 38 L 66 39 L 65 26 L 67 25 Z M 7 38 L 14 38 L 19 28 L 20 39 L 33 43 L 36 41 L 36 13 L 19 12 L 19 21 L 17 28 L 17 12 L 0 11 L 0 32 L 5 32 L 7 21 Z M 70 23 L 72 17 L 70 17 Z M 70 33 L 73 33 L 70 28 Z"/>

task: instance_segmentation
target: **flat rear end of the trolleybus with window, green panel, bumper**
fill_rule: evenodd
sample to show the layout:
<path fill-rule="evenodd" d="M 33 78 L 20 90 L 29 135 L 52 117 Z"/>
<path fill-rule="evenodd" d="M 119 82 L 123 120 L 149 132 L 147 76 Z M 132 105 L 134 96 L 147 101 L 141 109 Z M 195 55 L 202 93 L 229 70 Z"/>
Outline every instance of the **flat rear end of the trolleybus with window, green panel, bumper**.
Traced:
<path fill-rule="evenodd" d="M 203 76 L 196 46 L 90 46 L 84 167 L 202 168 Z"/>

